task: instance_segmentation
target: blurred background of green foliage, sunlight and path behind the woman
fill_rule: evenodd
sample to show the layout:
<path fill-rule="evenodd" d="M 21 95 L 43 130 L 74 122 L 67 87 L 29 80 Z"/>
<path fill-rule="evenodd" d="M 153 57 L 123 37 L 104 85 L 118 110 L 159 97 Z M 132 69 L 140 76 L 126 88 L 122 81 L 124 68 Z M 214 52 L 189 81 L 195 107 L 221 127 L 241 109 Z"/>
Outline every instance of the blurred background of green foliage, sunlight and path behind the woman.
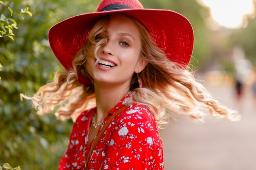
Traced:
<path fill-rule="evenodd" d="M 170 9 L 191 22 L 195 47 L 190 67 L 211 94 L 242 120 L 209 118 L 204 124 L 177 117 L 160 134 L 166 170 L 256 169 L 255 0 L 140 0 L 145 8 Z M 20 93 L 33 95 L 63 70 L 47 40 L 51 26 L 96 11 L 100 0 L 2 0 L 0 15 L 29 7 L 15 18 L 14 41 L 0 38 L 0 165 L 54 170 L 68 144 L 72 120 L 38 116 Z M 1 21 L 0 21 L 1 22 Z M 75 28 L 74 28 L 75 29 Z M 71 30 L 72 31 L 72 30 Z"/>

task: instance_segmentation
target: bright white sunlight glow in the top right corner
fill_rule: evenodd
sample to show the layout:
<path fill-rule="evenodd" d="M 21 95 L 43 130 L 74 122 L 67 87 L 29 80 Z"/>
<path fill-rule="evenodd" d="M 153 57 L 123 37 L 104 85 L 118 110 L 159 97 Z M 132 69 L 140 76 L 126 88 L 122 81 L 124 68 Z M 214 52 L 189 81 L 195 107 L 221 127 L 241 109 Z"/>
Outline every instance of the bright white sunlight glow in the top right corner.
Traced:
<path fill-rule="evenodd" d="M 255 15 L 253 0 L 198 0 L 198 2 L 210 8 L 211 22 L 230 29 L 245 27 L 247 17 Z"/>

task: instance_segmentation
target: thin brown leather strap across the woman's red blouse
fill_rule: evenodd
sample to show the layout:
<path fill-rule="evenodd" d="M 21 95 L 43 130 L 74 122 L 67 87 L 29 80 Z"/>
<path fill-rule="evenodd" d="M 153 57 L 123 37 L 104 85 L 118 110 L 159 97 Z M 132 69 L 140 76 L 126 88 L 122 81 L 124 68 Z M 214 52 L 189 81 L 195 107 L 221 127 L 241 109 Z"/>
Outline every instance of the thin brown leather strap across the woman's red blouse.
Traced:
<path fill-rule="evenodd" d="M 127 106 L 122 107 L 120 110 L 118 110 L 116 113 L 114 113 L 112 116 L 110 116 L 110 118 L 108 118 L 108 120 L 106 121 L 106 123 L 103 125 L 103 127 L 101 128 L 101 130 L 99 131 L 99 134 L 97 135 L 97 137 L 95 138 L 95 140 L 92 143 L 91 149 L 88 153 L 88 157 L 86 159 L 86 167 L 88 166 L 88 162 L 89 159 L 91 157 L 91 151 L 93 151 L 99 141 L 99 139 L 101 138 L 102 134 L 104 133 L 105 129 L 107 128 L 108 124 L 110 123 L 110 121 L 112 121 L 112 119 L 118 115 L 119 113 L 123 112 L 125 109 L 127 108 Z"/>

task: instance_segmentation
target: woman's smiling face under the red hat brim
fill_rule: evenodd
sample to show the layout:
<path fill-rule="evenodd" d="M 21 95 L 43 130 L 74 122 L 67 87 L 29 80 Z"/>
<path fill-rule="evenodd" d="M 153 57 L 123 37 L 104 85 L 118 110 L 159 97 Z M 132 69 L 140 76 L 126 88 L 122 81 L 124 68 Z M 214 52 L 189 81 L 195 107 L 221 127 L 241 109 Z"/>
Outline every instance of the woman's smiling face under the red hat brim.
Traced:
<path fill-rule="evenodd" d="M 98 38 L 107 39 L 106 45 L 97 51 L 99 60 L 88 57 L 86 62 L 94 84 L 130 87 L 132 75 L 146 66 L 140 56 L 141 38 L 136 24 L 125 15 L 112 14 L 106 33 Z"/>

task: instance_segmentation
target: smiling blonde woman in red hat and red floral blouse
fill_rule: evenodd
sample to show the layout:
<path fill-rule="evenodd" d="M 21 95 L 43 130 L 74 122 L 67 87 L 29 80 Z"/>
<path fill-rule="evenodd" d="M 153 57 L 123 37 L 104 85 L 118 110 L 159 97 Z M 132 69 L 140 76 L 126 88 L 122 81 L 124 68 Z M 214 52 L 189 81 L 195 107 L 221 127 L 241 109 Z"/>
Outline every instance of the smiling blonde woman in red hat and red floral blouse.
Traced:
<path fill-rule="evenodd" d="M 61 106 L 57 117 L 79 115 L 60 170 L 162 170 L 167 113 L 239 119 L 186 70 L 193 29 L 178 13 L 103 0 L 97 12 L 54 25 L 49 42 L 67 71 L 30 99 L 39 114 Z"/>

